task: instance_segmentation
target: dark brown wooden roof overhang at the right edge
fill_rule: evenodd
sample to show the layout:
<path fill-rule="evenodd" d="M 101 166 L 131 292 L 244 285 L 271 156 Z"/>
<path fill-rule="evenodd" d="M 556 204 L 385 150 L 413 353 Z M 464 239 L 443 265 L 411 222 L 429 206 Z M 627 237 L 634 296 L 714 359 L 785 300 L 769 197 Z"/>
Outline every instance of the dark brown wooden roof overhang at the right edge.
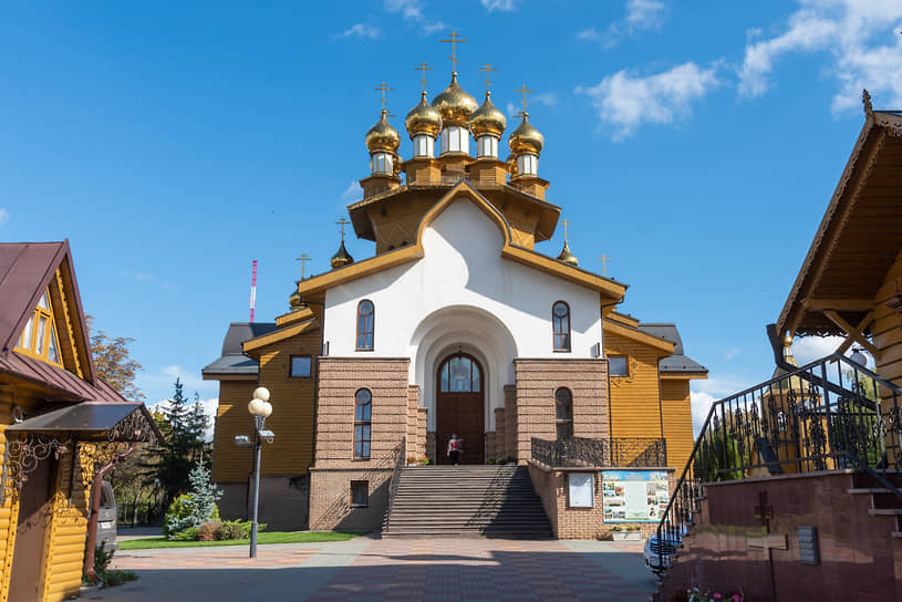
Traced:
<path fill-rule="evenodd" d="M 902 249 L 902 114 L 868 115 L 777 332 L 843 334 L 817 303 L 857 324 Z M 860 305 L 860 307 L 858 307 Z"/>

